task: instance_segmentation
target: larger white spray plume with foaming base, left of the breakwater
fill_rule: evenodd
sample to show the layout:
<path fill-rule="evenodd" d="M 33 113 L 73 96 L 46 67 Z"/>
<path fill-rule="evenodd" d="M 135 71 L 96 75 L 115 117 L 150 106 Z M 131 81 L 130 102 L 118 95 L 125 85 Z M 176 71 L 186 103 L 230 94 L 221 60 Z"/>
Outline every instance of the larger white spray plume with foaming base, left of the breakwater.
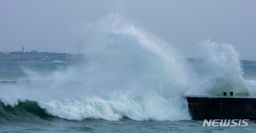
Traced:
<path fill-rule="evenodd" d="M 30 82 L 12 86 L 22 91 L 10 95 L 38 101 L 49 115 L 69 120 L 190 119 L 181 98 L 190 88 L 185 58 L 157 37 L 123 23 L 118 14 L 90 26 L 95 41 L 86 53 L 92 58 L 50 75 L 23 69 Z"/>

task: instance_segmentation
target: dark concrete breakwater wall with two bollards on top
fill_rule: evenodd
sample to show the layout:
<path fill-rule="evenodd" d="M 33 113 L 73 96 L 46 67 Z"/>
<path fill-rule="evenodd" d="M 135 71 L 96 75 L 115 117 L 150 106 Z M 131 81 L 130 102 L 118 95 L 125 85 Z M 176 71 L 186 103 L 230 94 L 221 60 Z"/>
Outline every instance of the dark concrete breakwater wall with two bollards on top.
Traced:
<path fill-rule="evenodd" d="M 256 98 L 185 97 L 193 120 L 256 120 Z"/>

